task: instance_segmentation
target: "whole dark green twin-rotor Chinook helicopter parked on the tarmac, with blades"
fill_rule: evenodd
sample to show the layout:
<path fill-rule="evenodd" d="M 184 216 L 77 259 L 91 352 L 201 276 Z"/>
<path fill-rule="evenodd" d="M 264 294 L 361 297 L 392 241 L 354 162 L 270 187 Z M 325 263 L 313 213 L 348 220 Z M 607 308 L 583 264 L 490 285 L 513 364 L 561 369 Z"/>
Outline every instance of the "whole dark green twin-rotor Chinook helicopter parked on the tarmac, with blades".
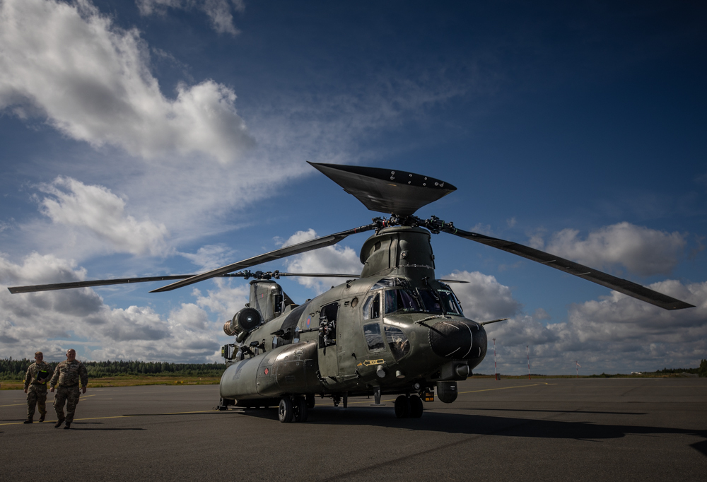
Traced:
<path fill-rule="evenodd" d="M 503 249 L 546 266 L 617 290 L 665 310 L 692 307 L 644 286 L 588 268 L 515 242 L 464 231 L 431 216 L 414 213 L 457 188 L 411 172 L 310 163 L 356 196 L 371 211 L 390 214 L 341 233 L 319 237 L 244 259 L 197 275 L 156 276 L 80 281 L 9 288 L 30 293 L 120 283 L 180 280 L 151 293 L 181 288 L 216 276 L 255 278 L 250 302 L 223 331 L 235 336 L 223 346 L 226 371 L 221 401 L 229 406 L 278 406 L 281 422 L 306 421 L 315 396 L 334 405 L 349 396 L 398 395 L 395 414 L 419 418 L 423 400 L 451 403 L 457 382 L 472 375 L 486 355 L 484 325 L 503 319 L 475 321 L 464 317 L 448 283 L 435 276 L 431 234 L 449 233 Z M 361 274 L 255 273 L 247 268 L 331 246 L 349 235 L 374 231 L 361 248 Z M 245 271 L 238 271 L 245 270 Z M 296 305 L 273 281 L 281 276 L 344 276 L 346 282 Z"/>

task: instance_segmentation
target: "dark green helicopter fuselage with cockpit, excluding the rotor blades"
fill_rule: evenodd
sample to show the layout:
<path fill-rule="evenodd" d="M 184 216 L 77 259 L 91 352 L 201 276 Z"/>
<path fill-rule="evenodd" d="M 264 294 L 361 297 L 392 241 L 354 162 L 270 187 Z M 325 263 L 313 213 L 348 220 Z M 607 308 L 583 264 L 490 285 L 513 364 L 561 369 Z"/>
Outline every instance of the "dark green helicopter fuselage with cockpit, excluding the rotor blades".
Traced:
<path fill-rule="evenodd" d="M 423 393 L 436 384 L 439 394 L 440 384 L 471 375 L 486 355 L 486 332 L 436 280 L 428 231 L 384 228 L 364 243 L 361 261 L 361 278 L 241 334 L 222 399 L 247 406 L 287 395 Z M 264 310 L 261 292 L 255 304 Z"/>

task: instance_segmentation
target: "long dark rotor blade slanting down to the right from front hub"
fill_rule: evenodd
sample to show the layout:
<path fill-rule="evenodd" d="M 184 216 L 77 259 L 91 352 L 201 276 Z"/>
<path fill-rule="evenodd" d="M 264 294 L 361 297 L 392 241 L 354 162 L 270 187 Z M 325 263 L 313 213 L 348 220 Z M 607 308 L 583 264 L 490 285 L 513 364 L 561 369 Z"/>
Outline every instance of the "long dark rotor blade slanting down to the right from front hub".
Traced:
<path fill-rule="evenodd" d="M 480 242 L 482 245 L 491 246 L 509 253 L 518 254 L 518 256 L 522 256 L 532 261 L 537 261 L 540 264 L 550 266 L 554 269 L 559 269 L 560 271 L 573 274 L 574 276 L 579 276 L 585 280 L 592 281 L 592 283 L 606 286 L 607 288 L 616 290 L 619 293 L 624 293 L 624 295 L 638 298 L 638 300 L 643 300 L 651 305 L 664 308 L 665 310 L 682 310 L 683 308 L 694 307 L 694 305 L 690 305 L 689 303 L 681 300 L 676 300 L 668 295 L 658 293 L 658 291 L 645 288 L 645 286 L 641 286 L 623 278 L 617 278 L 616 276 L 606 274 L 603 271 L 589 268 L 583 264 L 575 263 L 574 261 L 570 261 L 568 259 L 563 259 L 559 256 L 555 256 L 554 254 L 540 251 L 539 249 L 519 245 L 517 242 L 500 240 L 496 237 L 471 233 L 469 231 L 464 231 L 454 227 L 445 227 L 442 230 L 445 233 L 464 237 L 467 240 Z"/>

